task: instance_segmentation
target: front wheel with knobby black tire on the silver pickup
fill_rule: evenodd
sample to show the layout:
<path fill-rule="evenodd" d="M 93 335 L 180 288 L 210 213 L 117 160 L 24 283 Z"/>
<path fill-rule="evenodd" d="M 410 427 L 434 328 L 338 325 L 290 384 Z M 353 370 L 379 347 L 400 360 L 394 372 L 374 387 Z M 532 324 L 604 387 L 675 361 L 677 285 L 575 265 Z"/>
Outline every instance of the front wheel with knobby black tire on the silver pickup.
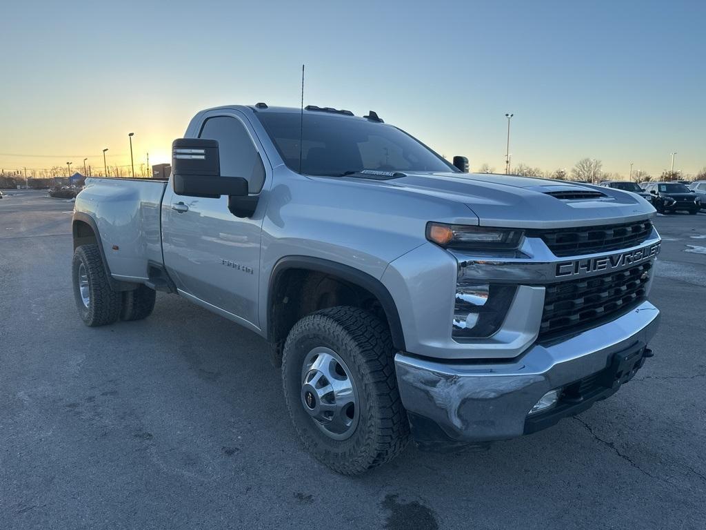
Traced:
<path fill-rule="evenodd" d="M 409 440 L 390 331 L 357 307 L 301 319 L 282 355 L 285 400 L 304 447 L 356 475 L 393 459 Z"/>

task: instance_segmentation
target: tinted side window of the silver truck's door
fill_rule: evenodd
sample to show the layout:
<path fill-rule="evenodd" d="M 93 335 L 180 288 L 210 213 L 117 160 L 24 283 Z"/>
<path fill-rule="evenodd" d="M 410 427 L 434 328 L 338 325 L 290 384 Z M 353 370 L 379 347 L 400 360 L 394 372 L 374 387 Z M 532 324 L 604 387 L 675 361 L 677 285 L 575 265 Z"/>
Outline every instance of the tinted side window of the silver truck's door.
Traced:
<path fill-rule="evenodd" d="M 265 166 L 239 119 L 229 116 L 208 118 L 198 137 L 218 141 L 221 175 L 243 177 L 248 181 L 248 192 L 260 192 L 265 184 Z"/>

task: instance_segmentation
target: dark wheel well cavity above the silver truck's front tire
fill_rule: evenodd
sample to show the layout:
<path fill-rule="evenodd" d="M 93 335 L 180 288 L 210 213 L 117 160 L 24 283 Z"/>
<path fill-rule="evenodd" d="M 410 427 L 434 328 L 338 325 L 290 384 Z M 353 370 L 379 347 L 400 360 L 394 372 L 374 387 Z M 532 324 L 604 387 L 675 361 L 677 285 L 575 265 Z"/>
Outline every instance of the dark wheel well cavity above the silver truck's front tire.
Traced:
<path fill-rule="evenodd" d="M 299 319 L 318 310 L 340 305 L 361 307 L 375 314 L 390 328 L 395 348 L 404 350 L 400 318 L 388 291 L 372 276 L 359 274 L 369 279 L 357 282 L 335 272 L 303 267 L 275 271 L 273 283 L 270 284 L 268 340 L 277 352 L 281 354 L 289 330 Z M 360 283 L 366 283 L 369 288 Z M 373 289 L 376 293 L 373 293 Z M 386 296 L 381 296 L 381 289 Z"/>

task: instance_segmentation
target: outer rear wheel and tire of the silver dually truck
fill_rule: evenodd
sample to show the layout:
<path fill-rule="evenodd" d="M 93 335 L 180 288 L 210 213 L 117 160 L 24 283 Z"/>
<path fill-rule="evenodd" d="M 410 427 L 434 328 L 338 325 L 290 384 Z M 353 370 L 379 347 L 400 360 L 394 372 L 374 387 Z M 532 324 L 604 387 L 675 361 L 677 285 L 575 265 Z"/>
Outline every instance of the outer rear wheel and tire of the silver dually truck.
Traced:
<path fill-rule="evenodd" d="M 113 324 L 120 317 L 121 293 L 112 290 L 97 245 L 80 245 L 71 263 L 73 298 L 86 326 Z"/>

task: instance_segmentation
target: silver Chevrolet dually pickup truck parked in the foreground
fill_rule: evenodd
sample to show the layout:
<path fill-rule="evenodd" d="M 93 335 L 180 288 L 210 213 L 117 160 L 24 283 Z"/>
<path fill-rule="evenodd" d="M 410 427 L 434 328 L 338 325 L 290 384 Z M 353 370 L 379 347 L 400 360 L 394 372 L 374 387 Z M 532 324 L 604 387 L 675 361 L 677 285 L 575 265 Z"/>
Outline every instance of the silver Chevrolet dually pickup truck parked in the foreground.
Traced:
<path fill-rule="evenodd" d="M 330 107 L 205 110 L 172 156 L 168 182 L 78 195 L 80 316 L 142 319 L 161 290 L 261 334 L 304 446 L 335 471 L 409 438 L 546 428 L 652 355 L 660 238 L 640 196 L 469 174 L 375 112 Z"/>

